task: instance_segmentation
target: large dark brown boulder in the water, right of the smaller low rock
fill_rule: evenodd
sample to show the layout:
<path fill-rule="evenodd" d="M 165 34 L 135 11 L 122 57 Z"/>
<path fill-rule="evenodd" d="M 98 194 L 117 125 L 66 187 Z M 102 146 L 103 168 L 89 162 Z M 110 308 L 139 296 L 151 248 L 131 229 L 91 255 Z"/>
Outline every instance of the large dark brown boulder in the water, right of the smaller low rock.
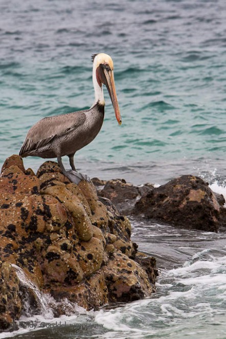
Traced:
<path fill-rule="evenodd" d="M 133 213 L 187 229 L 216 232 L 223 223 L 220 205 L 208 183 L 191 175 L 152 189 L 135 204 Z"/>

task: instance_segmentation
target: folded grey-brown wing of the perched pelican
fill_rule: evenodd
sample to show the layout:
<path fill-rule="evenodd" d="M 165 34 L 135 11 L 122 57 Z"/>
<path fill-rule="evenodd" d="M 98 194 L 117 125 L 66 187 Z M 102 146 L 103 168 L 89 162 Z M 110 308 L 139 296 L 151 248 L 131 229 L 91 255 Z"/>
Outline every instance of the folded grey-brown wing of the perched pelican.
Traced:
<path fill-rule="evenodd" d="M 85 122 L 85 112 L 78 111 L 39 120 L 29 130 L 19 155 L 26 156 L 26 154 L 46 146 L 55 138 L 77 129 Z"/>

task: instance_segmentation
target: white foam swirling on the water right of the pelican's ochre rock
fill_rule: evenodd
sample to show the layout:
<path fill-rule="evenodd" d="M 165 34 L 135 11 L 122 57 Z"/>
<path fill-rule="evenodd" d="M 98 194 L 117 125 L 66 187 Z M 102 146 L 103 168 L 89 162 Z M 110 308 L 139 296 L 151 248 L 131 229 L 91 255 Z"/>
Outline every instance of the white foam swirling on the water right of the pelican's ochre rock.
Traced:
<path fill-rule="evenodd" d="M 216 303 L 222 305 L 226 299 L 226 257 L 211 253 L 211 249 L 202 250 L 183 267 L 165 271 L 157 283 L 156 297 L 97 311 L 95 322 L 108 330 L 100 338 L 145 338 L 147 333 L 164 336 L 169 328 L 180 338 L 180 326 L 188 333 L 186 319 L 194 324 L 194 337 L 201 337 L 197 336 L 202 335 L 199 322 L 214 319 L 219 313 Z M 202 259 L 204 255 L 207 260 Z"/>

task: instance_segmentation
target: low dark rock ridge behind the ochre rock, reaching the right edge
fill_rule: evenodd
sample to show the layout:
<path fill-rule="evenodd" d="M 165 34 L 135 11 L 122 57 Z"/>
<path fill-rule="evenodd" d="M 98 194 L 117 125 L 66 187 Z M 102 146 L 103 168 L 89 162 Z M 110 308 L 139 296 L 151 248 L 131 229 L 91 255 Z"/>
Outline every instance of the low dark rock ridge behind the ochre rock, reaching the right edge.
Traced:
<path fill-rule="evenodd" d="M 134 186 L 124 179 L 95 178 L 94 183 L 100 200 L 111 199 L 120 211 L 135 218 L 178 228 L 225 231 L 224 197 L 199 177 L 184 175 L 160 187 Z"/>

